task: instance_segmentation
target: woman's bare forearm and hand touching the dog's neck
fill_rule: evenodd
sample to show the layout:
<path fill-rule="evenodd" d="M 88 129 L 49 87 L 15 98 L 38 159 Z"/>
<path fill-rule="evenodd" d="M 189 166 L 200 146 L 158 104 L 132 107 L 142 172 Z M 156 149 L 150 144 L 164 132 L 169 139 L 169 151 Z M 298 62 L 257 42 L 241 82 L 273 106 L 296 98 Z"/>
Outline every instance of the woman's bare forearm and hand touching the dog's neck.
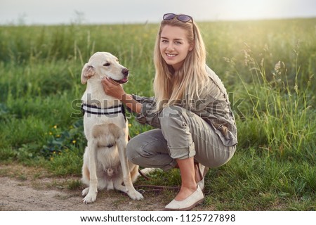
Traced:
<path fill-rule="evenodd" d="M 105 77 L 102 80 L 103 89 L 105 94 L 119 99 L 126 107 L 130 108 L 135 113 L 141 113 L 142 104 L 138 103 L 130 94 L 126 94 L 123 87 L 120 84 L 117 84 L 112 79 Z"/>

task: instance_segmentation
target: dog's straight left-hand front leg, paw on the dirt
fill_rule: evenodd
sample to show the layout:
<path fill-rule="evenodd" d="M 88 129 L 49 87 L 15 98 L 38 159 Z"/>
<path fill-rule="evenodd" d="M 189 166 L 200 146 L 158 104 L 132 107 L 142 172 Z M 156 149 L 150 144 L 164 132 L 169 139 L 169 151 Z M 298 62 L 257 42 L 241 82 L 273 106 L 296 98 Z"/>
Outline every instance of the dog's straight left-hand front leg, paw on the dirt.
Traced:
<path fill-rule="evenodd" d="M 96 149 L 98 146 L 98 141 L 96 139 L 91 139 L 91 141 L 88 141 L 88 170 L 90 174 L 90 181 L 89 181 L 89 187 L 88 189 L 85 189 L 84 191 L 88 191 L 86 197 L 84 197 L 83 202 L 84 203 L 92 203 L 96 200 L 96 195 L 98 193 L 98 176 L 96 173 L 96 167 L 97 167 L 97 154 Z"/>

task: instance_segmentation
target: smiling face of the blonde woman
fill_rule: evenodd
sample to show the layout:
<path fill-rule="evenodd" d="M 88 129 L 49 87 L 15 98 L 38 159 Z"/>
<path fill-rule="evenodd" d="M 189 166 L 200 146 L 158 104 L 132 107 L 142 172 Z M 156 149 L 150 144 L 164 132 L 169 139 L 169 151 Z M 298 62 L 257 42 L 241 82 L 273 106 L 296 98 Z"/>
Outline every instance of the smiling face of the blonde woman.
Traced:
<path fill-rule="evenodd" d="M 183 65 L 187 53 L 192 51 L 193 44 L 187 40 L 187 34 L 181 27 L 165 25 L 160 35 L 160 53 L 168 65 L 178 70 Z"/>

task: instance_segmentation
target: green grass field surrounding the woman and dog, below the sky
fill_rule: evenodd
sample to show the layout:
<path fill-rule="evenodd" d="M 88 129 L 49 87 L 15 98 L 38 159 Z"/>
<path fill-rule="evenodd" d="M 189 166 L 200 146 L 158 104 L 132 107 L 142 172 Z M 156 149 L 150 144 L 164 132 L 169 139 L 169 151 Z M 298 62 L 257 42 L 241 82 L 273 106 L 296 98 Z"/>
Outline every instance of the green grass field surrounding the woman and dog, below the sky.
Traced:
<path fill-rule="evenodd" d="M 316 209 L 315 24 L 316 18 L 199 23 L 207 63 L 230 93 L 239 139 L 234 158 L 206 174 L 206 207 Z M 86 146 L 81 68 L 94 52 L 109 51 L 131 71 L 125 90 L 152 96 L 157 29 L 1 26 L 0 164 L 79 177 Z M 151 129 L 132 115 L 129 123 L 131 136 Z M 180 175 L 174 169 L 138 182 L 174 186 Z"/>

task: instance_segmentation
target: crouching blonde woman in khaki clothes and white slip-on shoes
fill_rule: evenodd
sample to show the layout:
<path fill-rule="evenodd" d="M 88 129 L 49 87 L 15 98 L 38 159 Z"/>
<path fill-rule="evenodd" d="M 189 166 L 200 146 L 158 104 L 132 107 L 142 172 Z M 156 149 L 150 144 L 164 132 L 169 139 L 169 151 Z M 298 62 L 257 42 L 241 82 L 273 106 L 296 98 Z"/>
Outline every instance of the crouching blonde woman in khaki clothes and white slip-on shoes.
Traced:
<path fill-rule="evenodd" d="M 141 167 L 178 167 L 181 187 L 166 210 L 190 210 L 204 199 L 207 167 L 224 165 L 235 153 L 237 128 L 228 94 L 206 65 L 204 41 L 189 15 L 164 15 L 154 47 L 154 97 L 126 94 L 103 80 L 140 123 L 157 129 L 129 141 L 126 153 Z"/>

